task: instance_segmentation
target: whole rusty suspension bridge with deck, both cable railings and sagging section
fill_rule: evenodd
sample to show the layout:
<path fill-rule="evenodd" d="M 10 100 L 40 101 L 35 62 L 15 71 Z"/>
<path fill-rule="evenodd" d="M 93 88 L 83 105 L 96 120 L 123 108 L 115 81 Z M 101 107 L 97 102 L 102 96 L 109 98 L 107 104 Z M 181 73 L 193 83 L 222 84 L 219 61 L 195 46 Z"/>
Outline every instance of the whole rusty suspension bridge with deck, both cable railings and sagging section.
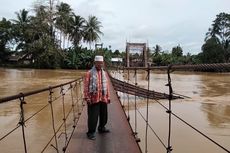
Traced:
<path fill-rule="evenodd" d="M 146 84 L 147 89 L 138 86 L 138 79 L 136 77 L 138 70 L 146 71 Z M 150 90 L 151 77 L 150 72 L 154 70 L 167 71 L 168 93 L 161 93 Z M 109 106 L 109 123 L 108 128 L 111 132 L 108 134 L 97 134 L 95 141 L 88 140 L 86 138 L 87 130 L 87 116 L 85 102 L 82 97 L 83 78 L 59 84 L 56 86 L 50 86 L 47 88 L 34 90 L 31 92 L 20 93 L 9 97 L 3 97 L 0 99 L 0 103 L 7 102 L 19 102 L 20 117 L 17 125 L 12 129 L 7 129 L 0 137 L 0 143 L 19 132 L 18 141 L 22 142 L 23 150 L 21 152 L 29 153 L 35 152 L 33 150 L 33 144 L 29 142 L 30 133 L 27 131 L 30 122 L 33 118 L 48 110 L 50 116 L 50 128 L 47 132 L 51 133 L 50 138 L 43 140 L 44 146 L 42 146 L 37 152 L 84 152 L 84 153 L 139 153 L 148 151 L 148 137 L 149 133 L 153 133 L 157 140 L 160 142 L 165 152 L 173 152 L 173 146 L 171 143 L 171 131 L 172 131 L 172 116 L 178 119 L 182 124 L 188 126 L 202 137 L 207 139 L 210 143 L 219 147 L 223 152 L 230 153 L 229 146 L 223 146 L 216 140 L 212 139 L 197 127 L 194 127 L 191 123 L 184 120 L 183 117 L 176 114 L 172 110 L 172 100 L 187 98 L 184 95 L 177 94 L 173 91 L 171 73 L 178 70 L 195 70 L 195 71 L 226 71 L 230 70 L 230 63 L 223 64 L 201 64 L 201 65 L 169 65 L 162 67 L 120 67 L 115 69 L 115 73 L 127 74 L 127 79 L 119 80 L 110 76 L 110 89 L 111 89 L 111 104 Z M 135 81 L 132 84 L 130 82 L 130 71 L 134 73 Z M 39 109 L 26 115 L 26 105 L 30 100 L 30 96 L 36 96 L 38 94 L 45 93 L 47 99 L 46 105 L 40 106 Z M 129 97 L 126 100 L 122 100 L 119 93 L 126 93 L 134 96 L 134 127 L 130 125 L 130 100 Z M 142 112 L 137 107 L 137 97 L 143 97 L 146 99 L 145 108 L 146 113 Z M 163 140 L 158 133 L 154 130 L 154 127 L 149 124 L 149 106 L 150 99 L 153 99 L 158 103 L 165 112 L 168 114 L 168 136 L 167 141 Z M 160 100 L 168 100 L 168 105 L 163 105 Z M 55 110 L 55 105 L 61 103 L 61 111 Z M 138 137 L 137 131 L 137 115 L 141 116 L 145 122 L 145 139 Z M 57 116 L 61 116 L 61 120 L 57 119 Z M 46 127 L 44 127 L 46 128 Z M 62 138 L 62 139 L 61 139 Z M 139 142 L 144 142 L 144 149 L 140 149 Z M 19 151 L 20 152 L 20 151 Z"/>

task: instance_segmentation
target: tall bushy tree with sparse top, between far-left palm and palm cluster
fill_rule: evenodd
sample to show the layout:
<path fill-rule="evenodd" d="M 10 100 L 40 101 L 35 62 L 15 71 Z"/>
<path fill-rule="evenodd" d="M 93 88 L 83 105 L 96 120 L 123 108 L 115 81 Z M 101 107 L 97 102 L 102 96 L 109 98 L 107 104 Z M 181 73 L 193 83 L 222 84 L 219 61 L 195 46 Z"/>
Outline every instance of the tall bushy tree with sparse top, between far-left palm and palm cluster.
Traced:
<path fill-rule="evenodd" d="M 64 54 L 59 49 L 55 35 L 51 34 L 52 25 L 49 22 L 49 8 L 44 5 L 35 7 L 35 16 L 31 17 L 32 42 L 29 53 L 37 68 L 60 67 Z M 34 30 L 36 29 L 36 30 Z"/>

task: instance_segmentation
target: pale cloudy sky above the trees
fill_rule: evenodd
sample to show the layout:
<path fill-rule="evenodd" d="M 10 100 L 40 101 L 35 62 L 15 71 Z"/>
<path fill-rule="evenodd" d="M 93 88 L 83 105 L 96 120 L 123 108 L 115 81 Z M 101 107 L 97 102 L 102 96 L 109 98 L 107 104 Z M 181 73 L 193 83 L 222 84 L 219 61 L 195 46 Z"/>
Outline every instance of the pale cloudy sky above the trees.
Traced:
<path fill-rule="evenodd" d="M 44 0 L 39 0 L 44 1 Z M 0 18 L 14 19 L 15 12 L 31 10 L 36 0 L 0 0 Z M 98 43 L 125 51 L 126 42 L 156 44 L 171 51 L 198 54 L 216 15 L 230 13 L 230 0 L 60 0 L 75 14 L 95 15 L 104 33 Z M 31 10 L 32 11 L 32 10 Z"/>

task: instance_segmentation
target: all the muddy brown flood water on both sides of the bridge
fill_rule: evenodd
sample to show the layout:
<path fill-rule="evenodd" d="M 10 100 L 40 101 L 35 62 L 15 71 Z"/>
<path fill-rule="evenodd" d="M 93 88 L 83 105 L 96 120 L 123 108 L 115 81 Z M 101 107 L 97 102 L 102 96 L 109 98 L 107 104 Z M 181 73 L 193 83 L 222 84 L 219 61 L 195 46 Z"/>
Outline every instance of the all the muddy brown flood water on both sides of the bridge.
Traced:
<path fill-rule="evenodd" d="M 76 79 L 83 74 L 84 71 L 73 70 L 0 68 L 0 97 L 57 85 Z M 122 79 L 121 74 L 115 73 L 113 75 L 116 78 Z M 146 88 L 146 74 L 139 72 L 137 77 L 138 85 Z M 130 78 L 130 82 L 134 83 L 132 73 L 130 74 Z M 230 149 L 230 73 L 174 72 L 171 79 L 175 93 L 191 97 L 183 100 L 174 100 L 172 102 L 173 112 L 227 149 Z M 151 89 L 168 93 L 168 88 L 165 86 L 166 83 L 167 75 L 164 72 L 151 73 Z M 56 93 L 58 92 L 60 91 L 57 90 Z M 123 97 L 127 96 L 123 95 Z M 48 103 L 48 93 L 30 96 L 25 100 L 27 102 L 25 115 L 29 117 Z M 68 101 L 70 99 L 66 97 L 65 100 Z M 131 96 L 130 102 L 134 103 L 134 98 Z M 168 104 L 167 101 L 161 100 L 160 102 L 166 106 Z M 62 113 L 60 113 L 62 112 L 62 107 L 61 103 L 57 103 L 54 106 L 54 113 L 55 117 L 60 119 L 57 121 L 58 124 L 61 123 L 62 119 Z M 145 106 L 146 100 L 138 98 L 138 108 L 144 116 L 146 113 Z M 66 109 L 68 109 L 68 106 Z M 0 104 L 0 137 L 18 124 L 19 113 L 18 101 Z M 134 127 L 134 110 L 131 109 L 129 113 L 131 124 Z M 53 131 L 50 116 L 50 108 L 48 107 L 26 124 L 28 152 L 41 152 L 52 136 Z M 145 122 L 139 114 L 137 115 L 137 122 L 138 136 L 141 138 L 140 146 L 144 152 Z M 149 124 L 162 138 L 164 143 L 167 144 L 168 114 L 154 101 L 150 101 Z M 72 124 L 68 122 L 68 127 L 71 126 Z M 19 128 L 14 134 L 1 141 L 0 152 L 24 152 L 21 135 L 21 128 Z M 60 135 L 61 138 L 64 139 L 64 135 Z M 52 143 L 55 144 L 54 142 Z M 224 151 L 175 117 L 172 117 L 171 144 L 175 153 L 224 153 Z M 56 151 L 49 146 L 45 152 L 52 153 Z M 166 152 L 150 129 L 148 129 L 148 152 Z"/>

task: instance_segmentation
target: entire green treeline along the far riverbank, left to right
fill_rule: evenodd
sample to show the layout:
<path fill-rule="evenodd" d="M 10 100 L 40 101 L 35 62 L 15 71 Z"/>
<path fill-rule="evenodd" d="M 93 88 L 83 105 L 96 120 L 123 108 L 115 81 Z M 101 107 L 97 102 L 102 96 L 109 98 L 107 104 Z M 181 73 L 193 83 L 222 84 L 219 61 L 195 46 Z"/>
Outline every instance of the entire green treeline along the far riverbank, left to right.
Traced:
<path fill-rule="evenodd" d="M 124 51 L 111 51 L 111 47 L 91 49 L 103 34 L 102 23 L 96 16 L 84 19 L 63 2 L 36 3 L 31 10 L 22 9 L 15 19 L 0 21 L 1 66 L 86 69 L 92 66 L 98 53 L 105 56 L 107 64 L 111 64 L 112 57 L 123 58 L 125 62 Z M 171 51 L 156 45 L 148 49 L 148 57 L 158 66 L 230 62 L 230 14 L 218 14 L 204 40 L 198 55 L 183 55 L 180 45 Z M 90 47 L 82 47 L 83 43 Z M 141 56 L 132 54 L 130 58 Z"/>

